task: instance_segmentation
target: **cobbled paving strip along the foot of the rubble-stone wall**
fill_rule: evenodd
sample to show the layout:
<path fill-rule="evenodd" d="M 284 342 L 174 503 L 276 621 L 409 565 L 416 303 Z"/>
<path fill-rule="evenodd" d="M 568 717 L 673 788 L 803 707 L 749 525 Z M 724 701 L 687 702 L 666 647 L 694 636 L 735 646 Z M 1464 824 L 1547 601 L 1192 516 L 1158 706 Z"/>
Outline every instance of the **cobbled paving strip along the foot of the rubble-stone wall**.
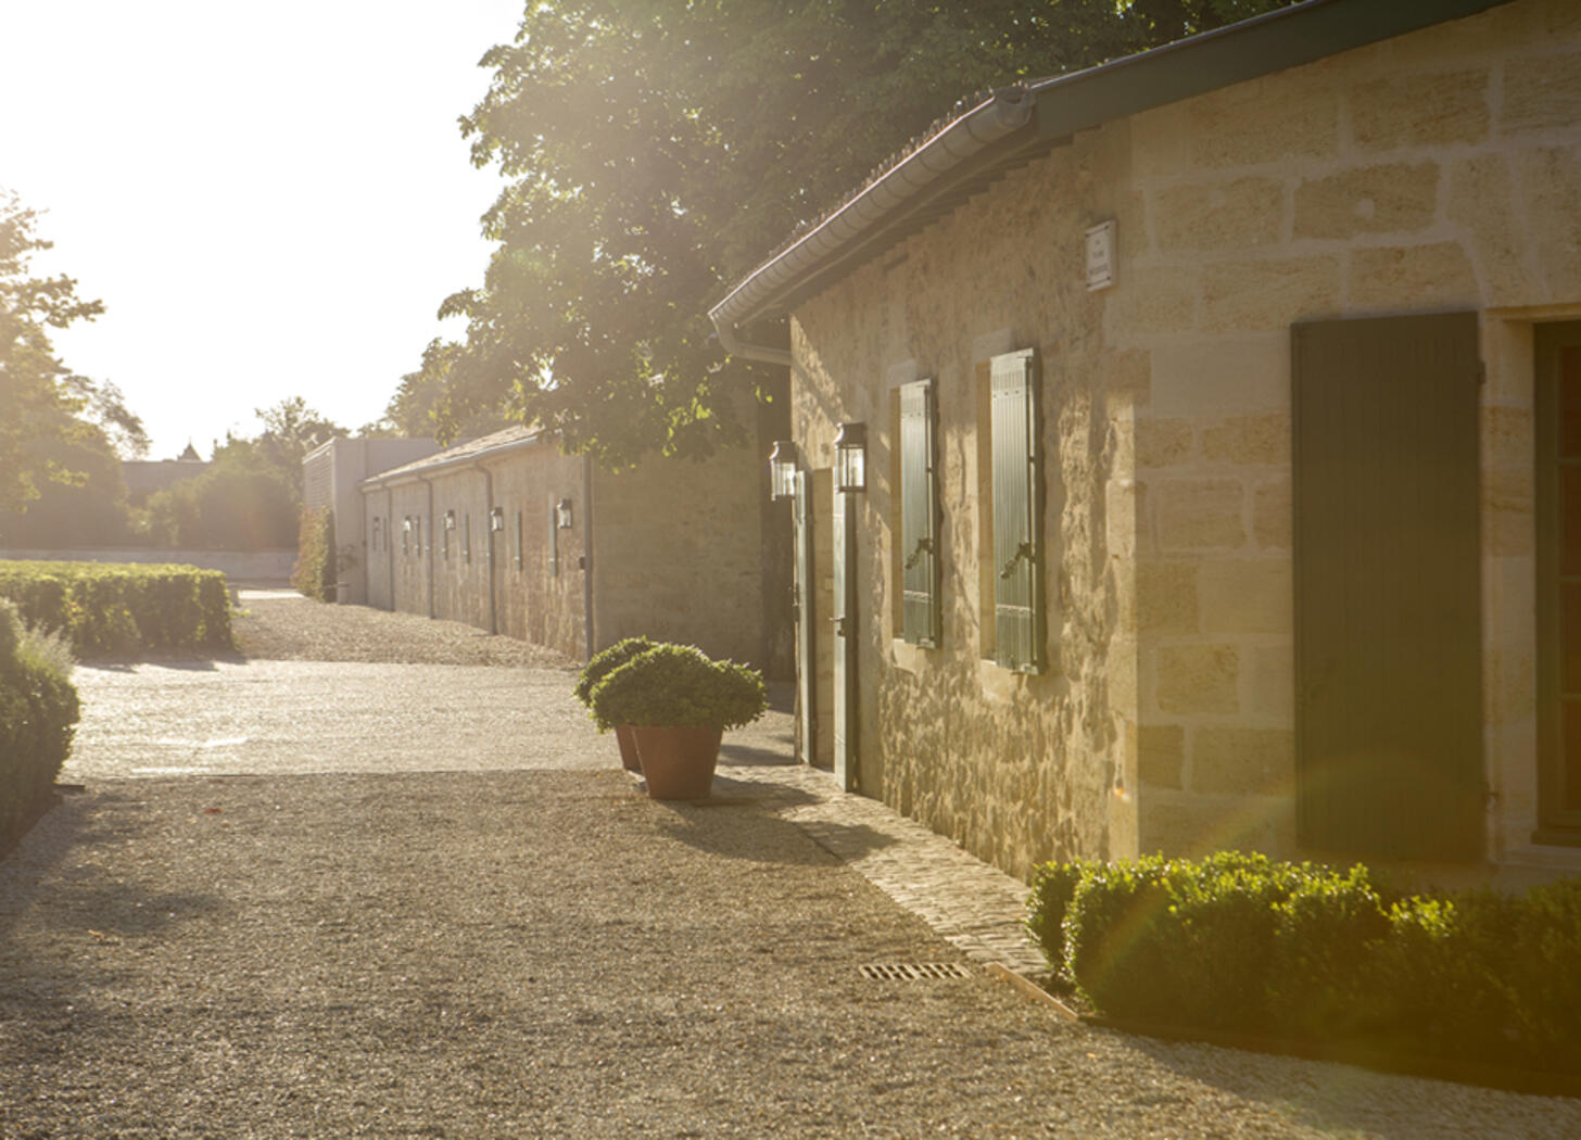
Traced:
<path fill-rule="evenodd" d="M 767 803 L 817 846 L 926 922 L 966 957 L 1024 977 L 1045 974 L 1021 919 L 1028 887 L 889 805 L 843 792 L 806 765 L 719 764 L 719 775 L 773 789 Z"/>

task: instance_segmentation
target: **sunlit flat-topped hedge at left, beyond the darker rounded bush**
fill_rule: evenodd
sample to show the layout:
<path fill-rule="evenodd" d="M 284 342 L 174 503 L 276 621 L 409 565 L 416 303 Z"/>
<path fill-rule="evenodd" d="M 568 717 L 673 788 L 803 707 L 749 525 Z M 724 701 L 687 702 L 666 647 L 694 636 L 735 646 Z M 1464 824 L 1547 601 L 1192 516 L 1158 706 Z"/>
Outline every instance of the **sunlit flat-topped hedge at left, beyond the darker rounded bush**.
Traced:
<path fill-rule="evenodd" d="M 0 561 L 0 598 L 22 620 L 66 637 L 74 653 L 228 650 L 225 574 L 194 566 Z"/>

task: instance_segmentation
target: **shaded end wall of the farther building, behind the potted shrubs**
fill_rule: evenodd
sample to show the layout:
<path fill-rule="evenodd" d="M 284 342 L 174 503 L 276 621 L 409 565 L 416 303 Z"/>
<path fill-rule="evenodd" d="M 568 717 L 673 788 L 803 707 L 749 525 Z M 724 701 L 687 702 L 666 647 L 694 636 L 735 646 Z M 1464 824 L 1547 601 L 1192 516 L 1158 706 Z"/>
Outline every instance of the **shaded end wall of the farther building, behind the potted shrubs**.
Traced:
<path fill-rule="evenodd" d="M 762 454 L 759 454 L 762 452 Z M 594 639 L 699 645 L 764 667 L 767 449 L 593 474 Z"/>

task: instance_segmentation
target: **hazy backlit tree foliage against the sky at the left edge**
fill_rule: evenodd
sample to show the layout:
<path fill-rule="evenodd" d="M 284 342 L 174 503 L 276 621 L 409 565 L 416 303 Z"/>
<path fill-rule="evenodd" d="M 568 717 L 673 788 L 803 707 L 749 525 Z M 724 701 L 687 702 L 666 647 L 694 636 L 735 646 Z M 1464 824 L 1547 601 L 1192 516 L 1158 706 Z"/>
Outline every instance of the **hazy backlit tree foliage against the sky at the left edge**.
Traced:
<path fill-rule="evenodd" d="M 82 487 L 112 470 L 117 452 L 149 449 L 142 421 L 120 391 L 66 368 L 51 329 L 92 321 L 104 305 L 82 300 L 70 277 L 32 277 L 28 266 L 51 242 L 38 215 L 0 191 L 0 511 L 21 512 L 49 484 Z M 112 492 L 106 487 L 106 492 Z M 125 487 L 120 487 L 125 498 Z"/>

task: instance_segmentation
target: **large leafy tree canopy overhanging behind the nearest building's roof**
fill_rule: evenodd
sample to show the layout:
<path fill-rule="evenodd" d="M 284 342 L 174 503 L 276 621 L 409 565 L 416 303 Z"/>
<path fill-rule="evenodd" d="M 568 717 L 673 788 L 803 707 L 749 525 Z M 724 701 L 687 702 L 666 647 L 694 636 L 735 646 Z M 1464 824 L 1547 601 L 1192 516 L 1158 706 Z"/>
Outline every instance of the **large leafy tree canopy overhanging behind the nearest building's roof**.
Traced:
<path fill-rule="evenodd" d="M 538 422 L 615 466 L 707 454 L 741 436 L 729 394 L 778 379 L 724 356 L 708 305 L 955 98 L 1285 2 L 531 0 L 462 120 L 506 179 L 495 253 L 389 416 Z"/>

